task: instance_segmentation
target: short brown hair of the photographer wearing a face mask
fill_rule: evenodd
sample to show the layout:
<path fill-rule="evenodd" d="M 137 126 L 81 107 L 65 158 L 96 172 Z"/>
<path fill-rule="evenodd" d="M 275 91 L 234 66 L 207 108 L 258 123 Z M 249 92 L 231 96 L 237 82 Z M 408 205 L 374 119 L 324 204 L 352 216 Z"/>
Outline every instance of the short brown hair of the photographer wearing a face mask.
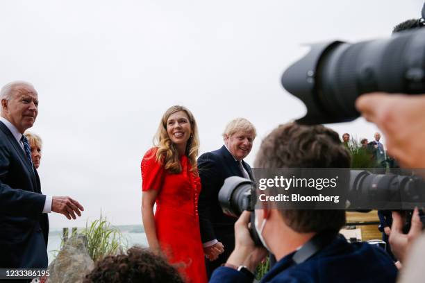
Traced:
<path fill-rule="evenodd" d="M 350 155 L 338 133 L 322 125 L 288 123 L 278 126 L 257 153 L 258 168 L 349 168 Z M 336 209 L 281 209 L 283 219 L 300 233 L 339 231 L 345 225 L 345 211 Z"/>

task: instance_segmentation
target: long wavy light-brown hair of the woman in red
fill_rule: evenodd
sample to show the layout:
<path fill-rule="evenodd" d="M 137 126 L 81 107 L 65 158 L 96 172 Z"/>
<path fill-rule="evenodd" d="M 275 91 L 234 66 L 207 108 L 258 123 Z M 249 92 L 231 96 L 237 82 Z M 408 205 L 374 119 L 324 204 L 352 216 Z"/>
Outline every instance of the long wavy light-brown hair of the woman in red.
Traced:
<path fill-rule="evenodd" d="M 167 132 L 168 118 L 179 111 L 185 112 L 189 118 L 191 135 L 188 139 L 188 144 L 186 144 L 185 155 L 188 156 L 191 165 L 190 171 L 194 172 L 195 175 L 198 175 L 197 156 L 199 151 L 199 135 L 197 122 L 195 121 L 192 112 L 184 106 L 174 105 L 168 108 L 163 114 L 163 118 L 160 121 L 156 135 L 153 137 L 153 145 L 158 147 L 158 151 L 156 151 L 156 161 L 163 164 L 165 170 L 168 170 L 169 172 L 181 173 L 182 168 L 179 162 L 177 148 L 169 138 Z"/>

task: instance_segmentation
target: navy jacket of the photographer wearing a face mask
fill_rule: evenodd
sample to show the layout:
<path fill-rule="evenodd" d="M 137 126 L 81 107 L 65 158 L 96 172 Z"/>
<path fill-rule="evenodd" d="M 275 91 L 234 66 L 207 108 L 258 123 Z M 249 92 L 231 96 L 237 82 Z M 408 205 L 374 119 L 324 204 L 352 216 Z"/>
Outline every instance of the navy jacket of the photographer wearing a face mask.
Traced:
<path fill-rule="evenodd" d="M 395 282 L 397 268 L 385 250 L 369 243 L 347 243 L 343 237 L 319 250 L 301 264 L 294 252 L 279 260 L 261 282 Z M 233 268 L 218 268 L 210 283 L 248 283 L 248 277 Z"/>

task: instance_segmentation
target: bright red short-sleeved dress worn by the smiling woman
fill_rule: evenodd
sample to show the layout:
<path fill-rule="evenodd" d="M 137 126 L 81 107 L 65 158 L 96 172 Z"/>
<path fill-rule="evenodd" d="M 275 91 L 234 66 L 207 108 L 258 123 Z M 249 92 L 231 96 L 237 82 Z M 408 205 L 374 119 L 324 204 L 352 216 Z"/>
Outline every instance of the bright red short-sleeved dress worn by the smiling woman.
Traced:
<path fill-rule="evenodd" d="M 207 282 L 199 232 L 198 197 L 199 177 L 190 172 L 188 157 L 181 157 L 182 171 L 169 173 L 156 162 L 156 151 L 151 148 L 142 160 L 142 190 L 159 190 L 156 197 L 156 236 L 161 249 L 176 264 L 187 282 Z"/>

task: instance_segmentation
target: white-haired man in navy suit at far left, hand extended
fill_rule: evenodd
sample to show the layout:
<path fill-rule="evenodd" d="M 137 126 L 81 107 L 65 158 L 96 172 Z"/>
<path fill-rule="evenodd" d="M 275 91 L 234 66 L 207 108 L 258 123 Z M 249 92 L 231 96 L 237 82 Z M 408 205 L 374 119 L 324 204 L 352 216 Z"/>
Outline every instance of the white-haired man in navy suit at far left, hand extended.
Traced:
<path fill-rule="evenodd" d="M 0 268 L 46 268 L 47 213 L 75 219 L 83 207 L 72 198 L 41 193 L 40 178 L 23 136 L 38 114 L 38 93 L 33 85 L 9 83 L 1 89 L 0 101 Z"/>

